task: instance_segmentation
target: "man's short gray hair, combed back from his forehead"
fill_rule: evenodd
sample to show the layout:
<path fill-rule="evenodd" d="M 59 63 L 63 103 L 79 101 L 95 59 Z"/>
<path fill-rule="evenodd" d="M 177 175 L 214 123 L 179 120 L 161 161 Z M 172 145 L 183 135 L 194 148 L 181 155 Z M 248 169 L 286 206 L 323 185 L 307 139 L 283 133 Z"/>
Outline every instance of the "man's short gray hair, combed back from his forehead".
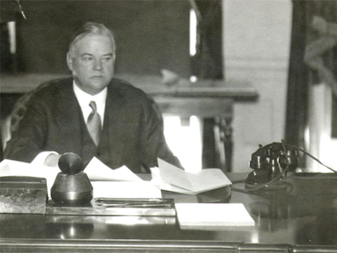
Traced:
<path fill-rule="evenodd" d="M 104 25 L 96 23 L 96 22 L 86 22 L 82 27 L 78 28 L 73 35 L 71 36 L 71 40 L 69 43 L 69 52 L 71 53 L 71 50 L 73 48 L 73 45 L 83 38 L 84 36 L 88 34 L 99 34 L 99 35 L 105 35 L 109 36 L 112 40 L 113 44 L 113 53 L 115 53 L 116 50 L 116 43 L 113 36 L 113 32 L 106 28 Z"/>

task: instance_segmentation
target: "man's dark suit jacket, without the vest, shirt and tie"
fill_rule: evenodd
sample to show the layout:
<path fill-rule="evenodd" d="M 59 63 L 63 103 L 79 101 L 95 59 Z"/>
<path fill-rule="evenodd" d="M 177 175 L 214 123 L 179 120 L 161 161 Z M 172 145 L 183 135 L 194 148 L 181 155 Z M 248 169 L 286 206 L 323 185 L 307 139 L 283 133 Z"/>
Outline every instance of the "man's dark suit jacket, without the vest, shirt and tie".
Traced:
<path fill-rule="evenodd" d="M 81 108 L 73 79 L 38 90 L 29 100 L 18 131 L 7 143 L 4 158 L 31 162 L 41 151 L 81 155 Z M 99 146 L 110 168 L 126 165 L 134 172 L 157 166 L 157 157 L 181 167 L 167 147 L 162 125 L 151 100 L 131 84 L 112 79 L 108 86 L 103 133 Z M 103 141 L 102 141 L 103 139 Z M 103 154 L 102 154 L 103 152 Z"/>

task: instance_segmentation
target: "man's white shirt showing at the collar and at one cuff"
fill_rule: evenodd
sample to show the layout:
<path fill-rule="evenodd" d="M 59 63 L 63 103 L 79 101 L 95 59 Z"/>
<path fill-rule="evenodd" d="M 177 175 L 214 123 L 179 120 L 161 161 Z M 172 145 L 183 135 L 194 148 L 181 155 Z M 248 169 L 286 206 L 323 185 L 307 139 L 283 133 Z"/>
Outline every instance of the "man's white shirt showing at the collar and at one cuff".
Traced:
<path fill-rule="evenodd" d="M 80 104 L 84 122 L 85 123 L 87 122 L 89 114 L 92 111 L 92 108 L 89 106 L 89 103 L 90 103 L 90 101 L 94 101 L 96 103 L 97 112 L 101 117 L 101 122 L 102 122 L 102 127 L 103 127 L 105 103 L 106 103 L 108 88 L 105 87 L 99 94 L 96 94 L 96 95 L 92 96 L 90 94 L 85 93 L 82 89 L 80 89 L 76 85 L 75 81 L 73 81 L 73 89 L 74 89 L 74 93 L 75 93 L 75 96 L 77 98 L 77 101 Z M 55 151 L 43 151 L 43 152 L 39 153 L 34 158 L 34 160 L 31 164 L 43 165 L 44 162 L 45 162 L 45 159 L 50 154 L 57 154 L 58 155 L 58 153 L 55 152 Z"/>

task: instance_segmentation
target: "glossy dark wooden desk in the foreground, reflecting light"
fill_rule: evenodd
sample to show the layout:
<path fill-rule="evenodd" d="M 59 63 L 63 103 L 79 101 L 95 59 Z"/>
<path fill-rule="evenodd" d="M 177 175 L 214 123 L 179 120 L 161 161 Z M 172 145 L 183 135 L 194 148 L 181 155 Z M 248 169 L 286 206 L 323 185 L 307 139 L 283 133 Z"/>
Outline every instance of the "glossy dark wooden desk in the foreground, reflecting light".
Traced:
<path fill-rule="evenodd" d="M 337 177 L 301 174 L 286 182 L 286 191 L 232 191 L 227 201 L 245 204 L 256 223 L 250 229 L 181 230 L 175 217 L 1 214 L 0 251 L 337 252 Z"/>

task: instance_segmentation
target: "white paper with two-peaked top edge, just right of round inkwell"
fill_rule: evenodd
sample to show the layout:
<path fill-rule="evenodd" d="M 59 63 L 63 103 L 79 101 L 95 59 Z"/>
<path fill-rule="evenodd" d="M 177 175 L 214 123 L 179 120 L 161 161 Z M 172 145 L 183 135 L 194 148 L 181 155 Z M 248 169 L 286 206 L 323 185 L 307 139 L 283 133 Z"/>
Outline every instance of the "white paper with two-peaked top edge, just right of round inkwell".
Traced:
<path fill-rule="evenodd" d="M 88 175 L 90 180 L 98 181 L 143 181 L 139 176 L 133 173 L 128 167 L 112 170 L 98 158 L 93 157 L 84 172 Z"/>

